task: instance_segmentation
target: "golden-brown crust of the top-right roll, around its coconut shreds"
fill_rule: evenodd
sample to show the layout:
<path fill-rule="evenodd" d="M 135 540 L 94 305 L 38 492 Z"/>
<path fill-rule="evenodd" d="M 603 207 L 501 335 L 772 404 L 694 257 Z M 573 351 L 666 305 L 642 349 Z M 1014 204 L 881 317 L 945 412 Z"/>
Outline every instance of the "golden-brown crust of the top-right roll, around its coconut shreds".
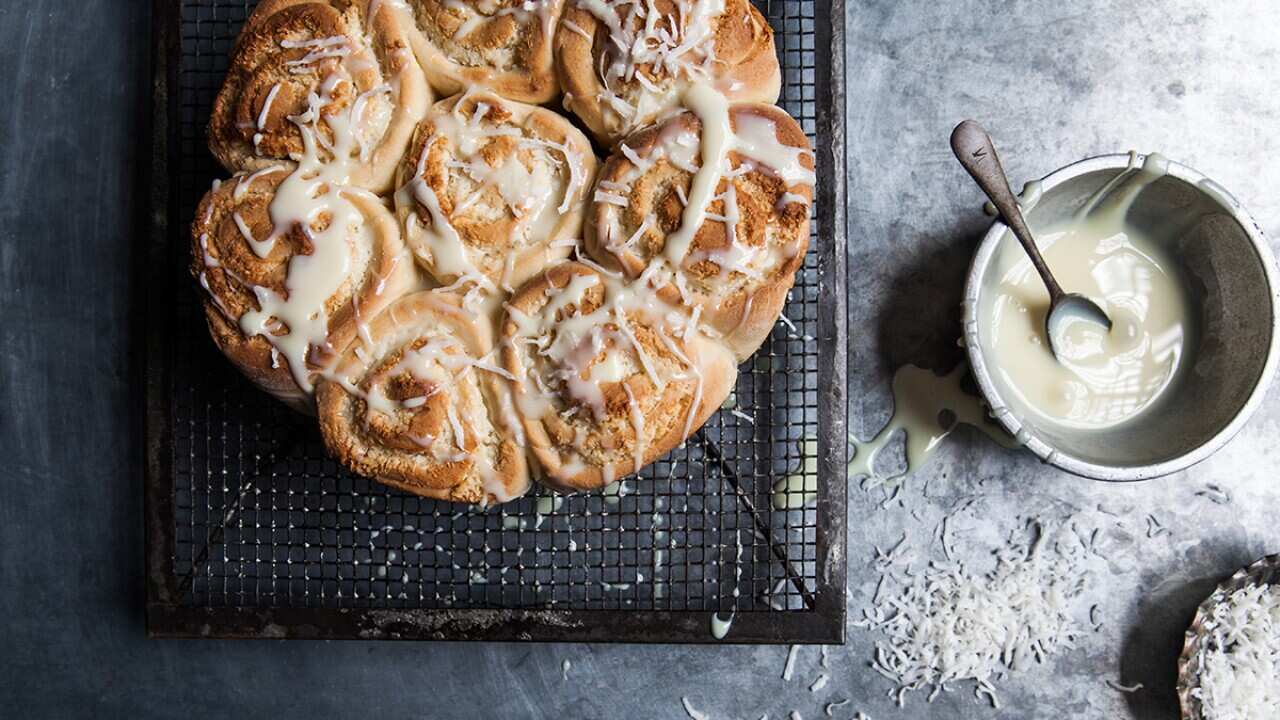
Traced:
<path fill-rule="evenodd" d="M 599 3 L 595 12 L 613 8 L 620 23 L 630 22 L 620 27 L 641 28 L 646 18 L 628 15 L 632 8 L 640 6 L 644 4 Z M 664 23 L 675 24 L 681 17 L 676 0 L 655 0 L 653 6 L 663 18 L 659 28 Z M 675 109 L 684 91 L 695 82 L 713 83 L 732 101 L 776 102 L 778 99 L 782 72 L 773 29 L 750 0 L 724 0 L 724 12 L 710 20 L 708 42 L 681 55 L 689 58 L 690 64 L 676 61 L 664 68 L 660 63 L 639 63 L 634 73 L 609 27 L 593 8 L 595 4 L 568 0 L 556 32 L 556 74 L 564 90 L 564 108 L 581 118 L 605 146 Z M 687 35 L 681 40 L 684 37 Z M 653 40 L 644 45 L 655 44 L 660 45 Z M 713 60 L 698 56 L 703 47 L 713 47 Z M 611 76 L 605 83 L 602 72 L 609 74 L 608 68 L 614 64 L 623 77 Z"/>

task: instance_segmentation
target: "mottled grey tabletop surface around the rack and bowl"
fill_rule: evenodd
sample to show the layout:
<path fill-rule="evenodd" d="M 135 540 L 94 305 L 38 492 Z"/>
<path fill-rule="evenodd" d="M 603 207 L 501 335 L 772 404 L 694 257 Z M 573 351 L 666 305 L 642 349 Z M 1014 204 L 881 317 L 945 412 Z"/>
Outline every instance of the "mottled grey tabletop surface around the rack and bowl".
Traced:
<path fill-rule="evenodd" d="M 73 6 L 74 5 L 74 6 Z M 969 552 L 1016 518 L 1098 502 L 1130 530 L 1091 591 L 1080 647 L 1000 684 L 906 710 L 867 667 L 874 634 L 780 679 L 780 647 L 148 642 L 143 639 L 141 438 L 128 357 L 129 252 L 146 113 L 148 3 L 5 3 L 0 68 L 0 716 L 6 717 L 820 717 L 852 698 L 892 717 L 1175 717 L 1174 659 L 1220 577 L 1280 550 L 1280 405 L 1176 477 L 1105 486 L 963 430 L 909 480 L 905 507 L 851 489 L 851 615 L 873 589 L 873 543 L 928 541 L 957 502 Z M 946 137 L 983 119 L 1014 178 L 1085 155 L 1160 150 L 1213 177 L 1280 237 L 1280 44 L 1262 0 L 851 1 L 849 252 L 851 424 L 887 419 L 891 370 L 959 360 L 960 283 L 986 225 Z M 1274 395 L 1274 393 L 1272 393 Z M 1197 496 L 1207 483 L 1229 505 Z M 1155 514 L 1170 530 L 1148 538 Z M 919 519 L 916 519 L 919 516 Z M 561 676 L 571 660 L 568 679 Z M 1107 679 L 1142 682 L 1134 694 Z"/>

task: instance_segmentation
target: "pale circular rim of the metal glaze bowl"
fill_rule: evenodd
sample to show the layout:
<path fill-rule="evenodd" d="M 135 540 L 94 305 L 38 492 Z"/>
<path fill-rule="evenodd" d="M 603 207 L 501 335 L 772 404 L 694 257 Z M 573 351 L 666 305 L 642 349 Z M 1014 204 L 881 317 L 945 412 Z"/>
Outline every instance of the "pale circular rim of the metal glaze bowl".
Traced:
<path fill-rule="evenodd" d="M 1123 170 L 1135 164 L 1140 164 L 1146 160 L 1146 154 L 1139 152 L 1114 152 L 1085 158 L 1069 165 L 1064 165 L 1062 168 L 1059 168 L 1057 170 L 1053 170 L 1041 178 L 1039 183 L 1042 186 L 1042 192 L 1047 193 L 1059 184 L 1088 173 L 1114 169 Z M 1245 210 L 1230 192 L 1206 177 L 1203 173 L 1181 163 L 1170 160 L 1167 174 L 1181 179 L 1203 195 L 1208 196 L 1213 202 L 1221 206 L 1222 210 L 1229 213 L 1231 218 L 1235 219 L 1235 222 L 1244 229 L 1258 261 L 1262 264 L 1263 277 L 1266 278 L 1271 295 L 1271 338 L 1267 347 L 1267 356 L 1262 365 L 1262 372 L 1258 375 L 1253 389 L 1226 425 L 1188 452 L 1149 465 L 1105 465 L 1082 460 L 1080 457 L 1076 457 L 1066 451 L 1057 450 L 1033 433 L 1025 423 L 1015 415 L 1014 410 L 1009 407 L 1007 402 L 1005 402 L 1004 397 L 996 389 L 991 370 L 987 366 L 987 360 L 983 357 L 982 347 L 978 343 L 978 300 L 982 293 L 982 275 L 991 264 L 1001 237 L 1005 234 L 1005 231 L 1009 229 L 1007 225 L 998 218 L 992 222 L 991 228 L 988 228 L 986 234 L 983 234 L 982 241 L 978 245 L 978 250 L 974 252 L 973 260 L 969 264 L 964 290 L 963 338 L 974 382 L 978 384 L 987 405 L 992 409 L 992 414 L 996 420 L 1006 430 L 1009 430 L 1010 434 L 1018 438 L 1024 447 L 1036 454 L 1036 456 L 1042 461 L 1075 475 L 1107 482 L 1146 480 L 1185 470 L 1187 468 L 1207 459 L 1210 455 L 1217 452 L 1233 437 L 1235 437 L 1235 434 L 1240 432 L 1240 428 L 1243 428 L 1245 423 L 1248 423 L 1249 418 L 1252 418 L 1258 405 L 1262 404 L 1267 388 L 1271 386 L 1271 380 L 1276 370 L 1276 363 L 1277 359 L 1280 359 L 1280 274 L 1277 274 L 1275 255 L 1271 252 L 1271 246 L 1267 243 L 1262 228 L 1258 227 L 1257 222 L 1252 215 L 1249 215 L 1248 210 Z"/>

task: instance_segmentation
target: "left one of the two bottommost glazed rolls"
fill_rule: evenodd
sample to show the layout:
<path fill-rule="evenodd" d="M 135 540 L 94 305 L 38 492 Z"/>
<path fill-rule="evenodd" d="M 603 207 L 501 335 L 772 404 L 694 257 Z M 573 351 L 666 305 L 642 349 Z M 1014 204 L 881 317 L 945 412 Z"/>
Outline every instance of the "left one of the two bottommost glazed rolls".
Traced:
<path fill-rule="evenodd" d="M 489 325 L 458 296 L 407 295 L 320 383 L 325 446 L 351 470 L 416 495 L 477 505 L 520 497 L 525 455 L 494 420 L 511 407 L 500 375 Z"/>

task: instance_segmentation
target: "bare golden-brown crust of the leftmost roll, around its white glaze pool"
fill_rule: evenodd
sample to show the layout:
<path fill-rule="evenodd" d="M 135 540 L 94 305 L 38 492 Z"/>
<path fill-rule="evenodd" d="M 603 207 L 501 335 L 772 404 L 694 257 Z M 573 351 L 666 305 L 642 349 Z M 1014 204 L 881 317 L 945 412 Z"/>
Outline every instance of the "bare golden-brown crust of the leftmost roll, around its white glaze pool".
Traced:
<path fill-rule="evenodd" d="M 260 310 L 255 288 L 287 296 L 289 261 L 311 252 L 301 227 L 292 227 L 275 238 L 265 258 L 250 246 L 243 224 L 256 240 L 271 237 L 270 215 L 275 190 L 293 172 L 284 164 L 256 173 L 239 173 L 205 193 L 191 227 L 191 273 L 206 291 L 205 316 L 219 350 L 255 384 L 289 406 L 311 413 L 311 397 L 300 387 L 289 363 L 273 343 L 260 334 L 246 334 L 239 319 Z M 399 238 L 396 219 L 376 200 L 357 191 L 344 192 L 366 223 L 369 247 L 357 249 L 364 233 L 349 236 L 352 273 L 339 291 L 328 299 L 328 350 L 312 348 L 307 366 L 316 372 L 332 364 L 357 332 L 357 315 L 374 315 L 416 282 L 413 264 Z M 326 222 L 317 218 L 316 227 Z M 358 310 L 357 310 L 358 306 Z M 278 328 L 284 334 L 287 328 Z"/>

